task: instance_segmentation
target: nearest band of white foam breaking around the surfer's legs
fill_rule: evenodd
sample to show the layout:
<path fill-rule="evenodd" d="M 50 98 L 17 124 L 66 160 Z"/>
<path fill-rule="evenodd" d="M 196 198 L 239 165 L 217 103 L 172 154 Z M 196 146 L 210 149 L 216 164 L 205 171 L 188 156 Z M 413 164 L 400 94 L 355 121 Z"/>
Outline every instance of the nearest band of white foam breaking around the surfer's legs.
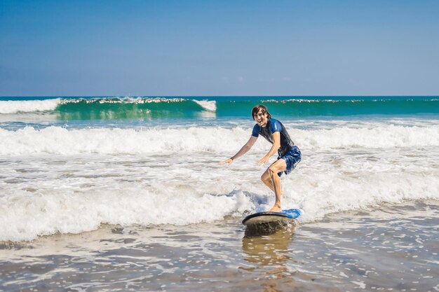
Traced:
<path fill-rule="evenodd" d="M 18 186 L 2 192 L 0 241 L 32 240 L 56 232 L 86 232 L 102 223 L 187 225 L 222 220 L 224 216 L 237 216 L 238 222 L 246 211 L 269 209 L 274 195 L 259 181 L 263 169 L 252 169 L 245 161 L 235 163 L 245 171 L 210 165 L 201 171 L 204 176 L 189 171 L 185 181 L 180 177 L 178 183 L 173 168 L 166 167 L 145 169 L 143 175 L 152 179 L 156 174 L 167 180 L 129 183 L 130 176 L 123 176 L 124 179 L 108 181 L 107 186 L 103 186 L 107 180 L 102 178 L 66 180 L 50 172 L 45 175 L 55 176 L 55 181 L 41 179 L 37 190 Z M 316 221 L 338 211 L 368 209 L 383 202 L 439 200 L 437 169 L 400 168 L 384 163 L 379 171 L 372 172 L 367 169 L 371 165 L 363 161 L 366 167 L 349 174 L 355 163 L 342 167 L 303 163 L 283 180 L 282 200 L 287 209 L 304 209 L 302 222 Z M 88 167 L 93 167 L 93 162 Z M 96 186 L 100 179 L 101 185 Z M 201 182 L 209 186 L 208 193 Z"/>

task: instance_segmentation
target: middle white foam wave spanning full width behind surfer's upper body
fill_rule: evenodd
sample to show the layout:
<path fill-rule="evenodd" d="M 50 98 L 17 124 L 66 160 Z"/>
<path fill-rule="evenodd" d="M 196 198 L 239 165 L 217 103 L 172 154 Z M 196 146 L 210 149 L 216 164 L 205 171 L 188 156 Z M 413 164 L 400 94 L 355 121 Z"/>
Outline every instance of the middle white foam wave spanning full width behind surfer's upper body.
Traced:
<path fill-rule="evenodd" d="M 405 127 L 335 127 L 327 130 L 290 128 L 295 143 L 307 149 L 395 148 L 439 146 L 439 125 Z M 167 129 L 81 129 L 46 127 L 38 130 L 0 129 L 0 155 L 75 155 L 81 153 L 137 154 L 192 151 L 236 151 L 249 139 L 251 129 L 235 127 L 189 127 Z M 263 140 L 263 138 L 259 139 Z M 266 149 L 256 144 L 256 149 Z"/>

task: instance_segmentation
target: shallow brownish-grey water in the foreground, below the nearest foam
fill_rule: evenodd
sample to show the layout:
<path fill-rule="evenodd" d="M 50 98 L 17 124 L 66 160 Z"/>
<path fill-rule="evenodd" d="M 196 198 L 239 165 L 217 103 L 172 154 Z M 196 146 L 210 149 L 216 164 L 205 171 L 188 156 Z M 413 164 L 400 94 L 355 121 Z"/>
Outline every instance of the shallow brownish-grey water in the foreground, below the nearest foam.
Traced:
<path fill-rule="evenodd" d="M 439 201 L 245 236 L 240 218 L 4 242 L 0 291 L 438 291 Z"/>

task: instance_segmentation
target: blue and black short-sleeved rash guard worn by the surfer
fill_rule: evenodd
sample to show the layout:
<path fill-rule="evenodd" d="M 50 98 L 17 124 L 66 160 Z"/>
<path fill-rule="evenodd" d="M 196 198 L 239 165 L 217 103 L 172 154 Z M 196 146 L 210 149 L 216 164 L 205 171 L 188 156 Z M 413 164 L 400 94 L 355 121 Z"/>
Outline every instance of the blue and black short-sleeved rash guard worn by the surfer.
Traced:
<path fill-rule="evenodd" d="M 278 154 L 279 157 L 282 157 L 283 155 L 285 155 L 285 153 L 288 152 L 288 150 L 290 150 L 292 146 L 295 146 L 295 144 L 290 138 L 290 135 L 288 134 L 287 130 L 285 129 L 285 127 L 282 125 L 281 122 L 273 118 L 269 118 L 265 127 L 261 127 L 256 124 L 255 127 L 253 127 L 252 136 L 259 137 L 260 134 L 267 141 L 273 144 L 274 132 L 281 133 L 281 147 L 278 148 Z"/>

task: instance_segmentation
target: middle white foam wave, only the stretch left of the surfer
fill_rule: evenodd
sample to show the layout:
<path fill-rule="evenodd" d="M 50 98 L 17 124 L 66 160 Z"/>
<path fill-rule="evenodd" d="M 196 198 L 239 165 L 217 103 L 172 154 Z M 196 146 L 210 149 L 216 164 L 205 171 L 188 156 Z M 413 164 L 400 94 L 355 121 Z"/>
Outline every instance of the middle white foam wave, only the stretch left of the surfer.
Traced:
<path fill-rule="evenodd" d="M 0 155 L 224 151 L 230 143 L 242 144 L 244 135 L 250 137 L 248 131 L 241 128 L 227 130 L 219 127 L 163 130 L 67 130 L 63 127 L 47 127 L 42 130 L 25 127 L 17 131 L 0 129 Z"/>

